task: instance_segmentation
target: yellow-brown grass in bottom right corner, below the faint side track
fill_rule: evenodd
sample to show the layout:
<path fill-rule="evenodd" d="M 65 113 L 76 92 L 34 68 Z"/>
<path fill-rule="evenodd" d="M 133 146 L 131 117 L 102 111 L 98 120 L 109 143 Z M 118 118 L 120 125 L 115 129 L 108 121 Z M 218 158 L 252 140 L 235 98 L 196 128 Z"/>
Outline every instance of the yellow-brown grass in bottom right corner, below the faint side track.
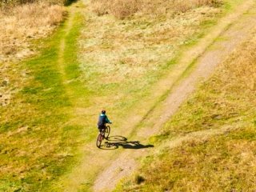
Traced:
<path fill-rule="evenodd" d="M 140 172 L 145 183 L 127 182 L 116 191 L 254 191 L 256 135 L 252 125 L 239 129 L 146 159 Z"/>

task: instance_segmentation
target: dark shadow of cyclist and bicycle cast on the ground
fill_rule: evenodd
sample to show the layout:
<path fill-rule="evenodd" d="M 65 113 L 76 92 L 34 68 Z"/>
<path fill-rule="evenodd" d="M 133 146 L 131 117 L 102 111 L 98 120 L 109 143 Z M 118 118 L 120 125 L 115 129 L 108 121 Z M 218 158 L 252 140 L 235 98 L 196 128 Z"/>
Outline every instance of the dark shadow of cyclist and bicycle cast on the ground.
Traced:
<path fill-rule="evenodd" d="M 130 150 L 139 150 L 149 147 L 154 147 L 153 145 L 142 145 L 139 141 L 128 141 L 127 138 L 120 136 L 120 135 L 114 135 L 106 139 L 106 142 L 104 142 L 100 149 L 102 150 L 116 150 L 119 147 L 122 147 L 123 149 L 130 149 Z"/>

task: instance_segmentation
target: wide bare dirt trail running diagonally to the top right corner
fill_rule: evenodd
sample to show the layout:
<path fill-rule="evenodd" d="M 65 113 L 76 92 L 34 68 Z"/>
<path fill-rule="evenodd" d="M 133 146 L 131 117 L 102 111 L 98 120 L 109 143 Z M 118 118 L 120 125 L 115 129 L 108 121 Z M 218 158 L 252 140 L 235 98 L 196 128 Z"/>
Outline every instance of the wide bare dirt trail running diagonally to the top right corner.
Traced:
<path fill-rule="evenodd" d="M 141 142 L 146 142 L 150 135 L 156 134 L 162 125 L 178 110 L 178 107 L 191 94 L 198 82 L 209 77 L 218 63 L 222 62 L 239 43 L 250 34 L 250 30 L 256 26 L 256 7 L 254 1 L 246 1 L 234 14 L 222 18 L 213 32 L 208 34 L 196 47 L 189 50 L 182 56 L 182 60 L 168 75 L 168 77 L 158 83 L 156 92 L 162 93 L 168 90 L 170 94 L 166 99 L 155 106 L 150 113 L 143 118 L 138 131 L 134 132 L 134 137 Z M 249 10 L 250 9 L 250 10 Z M 249 13 L 247 11 L 249 10 Z M 246 14 L 247 13 L 247 14 Z M 216 40 L 216 41 L 214 41 Z M 193 71 L 179 80 L 190 64 L 196 59 Z M 156 93 L 156 94 L 158 94 Z M 159 119 L 155 122 L 155 119 Z M 228 128 L 223 128 L 220 133 Z M 137 129 L 136 129 L 137 130 Z M 203 134 L 218 134 L 218 130 L 206 130 L 199 132 Z M 199 134 L 198 133 L 198 134 Z M 190 137 L 191 136 L 191 137 Z M 177 146 L 182 141 L 187 141 L 194 137 L 193 134 L 186 138 L 178 138 L 168 145 Z M 94 191 L 113 190 L 117 182 L 126 175 L 133 172 L 137 167 L 136 159 L 149 152 L 149 148 L 141 150 L 126 150 L 102 172 L 94 182 Z"/>

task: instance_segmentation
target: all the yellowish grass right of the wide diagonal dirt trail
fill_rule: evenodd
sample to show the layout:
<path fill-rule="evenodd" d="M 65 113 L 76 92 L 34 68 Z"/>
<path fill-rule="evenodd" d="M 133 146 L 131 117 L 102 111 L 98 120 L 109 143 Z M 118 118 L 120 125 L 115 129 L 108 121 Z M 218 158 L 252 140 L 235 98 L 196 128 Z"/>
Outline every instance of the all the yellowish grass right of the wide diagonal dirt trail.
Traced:
<path fill-rule="evenodd" d="M 254 30 L 151 140 L 159 146 L 199 130 L 231 130 L 193 138 L 142 159 L 138 173 L 116 191 L 256 190 L 255 34 Z"/>

